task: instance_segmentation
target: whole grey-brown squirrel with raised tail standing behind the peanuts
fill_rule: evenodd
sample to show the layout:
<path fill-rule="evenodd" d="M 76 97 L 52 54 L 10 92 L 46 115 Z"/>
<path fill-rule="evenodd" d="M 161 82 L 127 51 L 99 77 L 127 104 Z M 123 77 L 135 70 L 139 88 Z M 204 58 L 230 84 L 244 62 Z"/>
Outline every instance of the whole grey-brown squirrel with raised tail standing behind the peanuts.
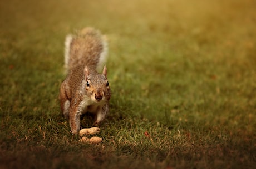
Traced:
<path fill-rule="evenodd" d="M 80 116 L 95 114 L 99 126 L 109 112 L 111 91 L 107 80 L 106 38 L 99 30 L 86 27 L 65 40 L 67 77 L 60 86 L 61 111 L 69 120 L 72 134 L 80 131 Z M 104 65 L 102 74 L 97 73 Z"/>

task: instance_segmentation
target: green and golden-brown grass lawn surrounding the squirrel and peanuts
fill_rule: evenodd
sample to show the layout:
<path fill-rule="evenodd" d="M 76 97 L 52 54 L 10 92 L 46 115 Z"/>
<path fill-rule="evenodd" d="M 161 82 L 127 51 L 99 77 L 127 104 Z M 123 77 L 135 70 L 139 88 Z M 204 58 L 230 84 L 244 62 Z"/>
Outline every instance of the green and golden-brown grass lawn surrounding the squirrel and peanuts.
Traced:
<path fill-rule="evenodd" d="M 1 1 L 0 168 L 253 168 L 255 6 Z M 99 145 L 70 134 L 58 102 L 65 36 L 88 25 L 109 38 Z"/>

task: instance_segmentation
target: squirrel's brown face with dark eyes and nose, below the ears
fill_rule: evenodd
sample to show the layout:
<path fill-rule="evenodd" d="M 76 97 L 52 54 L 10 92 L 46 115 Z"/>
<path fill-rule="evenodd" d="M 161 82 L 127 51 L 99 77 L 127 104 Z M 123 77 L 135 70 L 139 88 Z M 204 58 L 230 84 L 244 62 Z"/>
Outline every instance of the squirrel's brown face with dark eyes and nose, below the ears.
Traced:
<path fill-rule="evenodd" d="M 106 94 L 110 93 L 109 81 L 102 74 L 92 74 L 86 81 L 87 94 L 95 102 L 101 102 L 106 99 Z"/>

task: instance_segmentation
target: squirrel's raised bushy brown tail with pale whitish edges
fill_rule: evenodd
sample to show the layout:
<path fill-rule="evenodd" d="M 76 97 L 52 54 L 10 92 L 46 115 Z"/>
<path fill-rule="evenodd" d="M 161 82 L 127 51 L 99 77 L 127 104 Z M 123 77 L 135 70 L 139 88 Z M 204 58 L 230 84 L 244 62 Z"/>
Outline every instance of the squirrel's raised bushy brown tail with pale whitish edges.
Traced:
<path fill-rule="evenodd" d="M 101 69 L 107 57 L 106 37 L 98 30 L 86 27 L 76 35 L 67 35 L 65 40 L 65 68 L 67 71 L 76 66 L 90 66 Z"/>

